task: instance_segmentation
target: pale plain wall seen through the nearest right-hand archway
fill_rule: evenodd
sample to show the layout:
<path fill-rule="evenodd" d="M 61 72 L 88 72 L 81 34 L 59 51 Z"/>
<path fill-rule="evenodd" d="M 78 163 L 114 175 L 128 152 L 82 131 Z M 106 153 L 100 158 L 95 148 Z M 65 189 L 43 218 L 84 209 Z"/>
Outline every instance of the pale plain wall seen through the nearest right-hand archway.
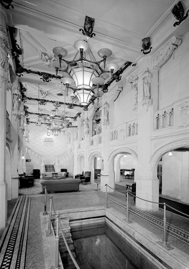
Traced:
<path fill-rule="evenodd" d="M 181 179 L 183 174 L 183 153 L 172 152 L 163 157 L 162 194 L 181 200 Z"/>

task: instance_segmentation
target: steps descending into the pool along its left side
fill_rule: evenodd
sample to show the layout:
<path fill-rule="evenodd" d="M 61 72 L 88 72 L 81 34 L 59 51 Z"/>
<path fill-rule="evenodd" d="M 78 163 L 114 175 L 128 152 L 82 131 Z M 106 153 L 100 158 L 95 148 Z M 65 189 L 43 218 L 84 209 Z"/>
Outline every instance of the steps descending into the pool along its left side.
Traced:
<path fill-rule="evenodd" d="M 70 219 L 67 217 L 61 218 L 60 222 L 61 222 L 61 227 L 62 227 L 62 230 L 64 233 L 64 237 L 66 239 L 66 242 L 69 246 L 69 249 L 70 249 L 74 259 L 76 260 L 75 248 L 73 245 L 72 235 L 70 232 L 70 225 L 69 225 Z M 53 226 L 54 231 L 56 231 L 56 219 L 52 220 L 52 226 Z M 59 252 L 60 252 L 60 257 L 62 259 L 64 269 L 76 269 L 76 267 L 72 261 L 72 258 L 70 257 L 70 254 L 67 251 L 67 248 L 66 248 L 66 245 L 64 243 L 64 240 L 63 240 L 63 237 L 62 237 L 60 230 L 59 230 L 59 235 L 60 235 L 60 237 L 59 237 Z"/>

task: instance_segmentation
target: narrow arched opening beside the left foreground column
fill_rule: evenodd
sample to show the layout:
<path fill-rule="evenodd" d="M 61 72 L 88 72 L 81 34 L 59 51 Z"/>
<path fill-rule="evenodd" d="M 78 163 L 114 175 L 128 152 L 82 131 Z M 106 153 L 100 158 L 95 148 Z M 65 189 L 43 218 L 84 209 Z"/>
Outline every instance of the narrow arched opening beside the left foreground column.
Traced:
<path fill-rule="evenodd" d="M 6 143 L 6 162 L 5 162 L 5 179 L 7 183 L 7 199 L 12 199 L 12 175 L 11 175 L 11 148 L 8 143 Z"/>

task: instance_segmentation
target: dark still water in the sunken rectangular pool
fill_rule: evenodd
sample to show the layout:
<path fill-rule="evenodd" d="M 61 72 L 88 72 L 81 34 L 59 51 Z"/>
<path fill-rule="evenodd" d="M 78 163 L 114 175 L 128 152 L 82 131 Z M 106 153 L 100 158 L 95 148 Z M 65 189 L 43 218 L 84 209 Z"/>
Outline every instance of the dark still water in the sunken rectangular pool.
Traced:
<path fill-rule="evenodd" d="M 160 269 L 111 225 L 71 229 L 77 263 L 81 269 Z M 148 258 L 147 258 L 148 257 Z"/>

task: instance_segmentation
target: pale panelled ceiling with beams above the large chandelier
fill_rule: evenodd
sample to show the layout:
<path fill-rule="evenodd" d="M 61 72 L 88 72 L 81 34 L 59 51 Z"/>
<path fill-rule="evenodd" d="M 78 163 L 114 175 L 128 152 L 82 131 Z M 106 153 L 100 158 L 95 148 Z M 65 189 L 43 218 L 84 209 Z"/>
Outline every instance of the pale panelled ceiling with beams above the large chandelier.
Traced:
<path fill-rule="evenodd" d="M 97 55 L 99 49 L 108 48 L 112 55 L 110 59 L 107 58 L 107 63 L 117 63 L 121 68 L 126 61 L 137 63 L 144 56 L 141 52 L 144 37 L 151 38 L 153 53 L 170 36 L 182 37 L 188 31 L 189 19 L 179 27 L 173 26 L 176 19 L 171 9 L 177 2 L 178 0 L 13 0 L 14 8 L 8 9 L 7 21 L 10 27 L 16 28 L 13 37 L 22 52 L 17 59 L 22 68 L 34 71 L 34 74 L 18 74 L 26 89 L 25 95 L 30 98 L 25 103 L 31 112 L 28 115 L 29 121 L 35 122 L 38 119 L 35 113 L 39 112 L 39 108 L 47 114 L 54 109 L 53 102 L 47 101 L 44 105 L 34 99 L 61 102 L 60 113 L 66 109 L 66 116 L 70 117 L 71 122 L 73 117 L 84 111 L 77 99 L 74 100 L 74 107 L 69 105 L 72 103 L 70 95 L 73 90 L 69 90 L 68 96 L 65 96 L 65 86 L 59 79 L 64 77 L 64 73 L 59 72 L 56 79 L 55 69 L 49 67 L 48 60 L 45 62 L 43 55 L 45 53 L 51 57 L 52 49 L 58 46 L 68 51 L 66 60 L 73 60 L 76 54 L 74 42 L 86 38 L 80 31 L 84 28 L 86 15 L 95 19 L 95 36 L 88 39 L 95 59 L 101 60 Z M 189 7 L 189 0 L 182 3 L 186 9 Z M 134 68 L 136 67 L 131 65 L 124 72 Z M 52 74 L 53 77 L 43 80 L 39 72 Z"/>

